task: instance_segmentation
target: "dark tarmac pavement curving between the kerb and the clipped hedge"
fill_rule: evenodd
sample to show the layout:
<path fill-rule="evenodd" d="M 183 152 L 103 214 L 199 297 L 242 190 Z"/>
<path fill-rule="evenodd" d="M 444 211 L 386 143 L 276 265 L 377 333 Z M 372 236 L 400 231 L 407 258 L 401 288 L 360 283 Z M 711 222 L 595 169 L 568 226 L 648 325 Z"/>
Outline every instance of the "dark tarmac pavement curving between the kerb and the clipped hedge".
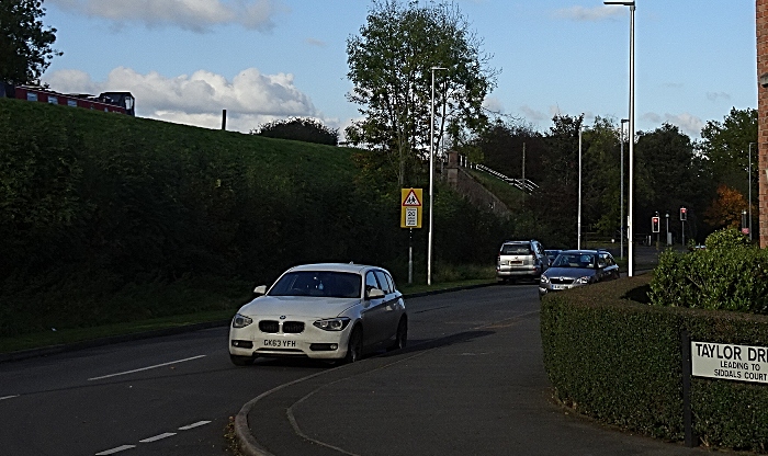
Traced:
<path fill-rule="evenodd" d="M 557 404 L 539 311 L 282 385 L 246 403 L 248 456 L 700 455 Z"/>

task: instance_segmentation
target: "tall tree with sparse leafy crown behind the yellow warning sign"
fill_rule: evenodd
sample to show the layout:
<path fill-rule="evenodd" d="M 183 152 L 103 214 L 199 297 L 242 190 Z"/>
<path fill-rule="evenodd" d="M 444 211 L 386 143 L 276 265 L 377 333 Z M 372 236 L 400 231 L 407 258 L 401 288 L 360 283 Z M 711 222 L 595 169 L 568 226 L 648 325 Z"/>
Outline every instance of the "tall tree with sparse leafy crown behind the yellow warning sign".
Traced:
<path fill-rule="evenodd" d="M 347 139 L 387 155 L 404 185 L 430 150 L 433 73 L 438 142 L 448 133 L 455 144 L 487 122 L 482 104 L 496 71 L 481 45 L 452 3 L 374 0 L 360 35 L 347 41 L 354 84 L 348 99 L 363 116 L 346 129 Z"/>

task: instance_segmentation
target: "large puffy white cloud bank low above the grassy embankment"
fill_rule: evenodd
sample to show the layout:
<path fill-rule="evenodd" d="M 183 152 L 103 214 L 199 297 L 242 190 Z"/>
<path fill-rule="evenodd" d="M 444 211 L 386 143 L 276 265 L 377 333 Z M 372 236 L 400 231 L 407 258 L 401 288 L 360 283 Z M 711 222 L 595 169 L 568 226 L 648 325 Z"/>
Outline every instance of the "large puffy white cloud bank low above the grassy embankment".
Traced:
<path fill-rule="evenodd" d="M 167 78 L 118 67 L 104 82 L 92 81 L 79 70 L 46 73 L 44 82 L 64 93 L 128 91 L 136 98 L 138 116 L 205 128 L 221 128 L 222 110 L 227 110 L 227 129 L 244 133 L 291 116 L 321 117 L 312 100 L 294 86 L 293 75 L 262 75 L 256 68 L 240 71 L 231 81 L 202 70 Z"/>

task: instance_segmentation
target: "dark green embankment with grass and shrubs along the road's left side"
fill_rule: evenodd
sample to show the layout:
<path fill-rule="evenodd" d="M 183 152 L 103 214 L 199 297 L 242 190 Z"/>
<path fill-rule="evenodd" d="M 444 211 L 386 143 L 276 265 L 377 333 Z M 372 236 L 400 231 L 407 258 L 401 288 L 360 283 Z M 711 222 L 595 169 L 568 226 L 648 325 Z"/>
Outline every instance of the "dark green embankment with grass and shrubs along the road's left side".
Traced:
<path fill-rule="evenodd" d="M 0 99 L 0 337 L 212 306 L 147 284 L 269 283 L 315 261 L 403 276 L 399 189 L 361 172 L 365 153 Z M 434 217 L 438 262 L 492 264 L 508 236 L 447 189 Z"/>

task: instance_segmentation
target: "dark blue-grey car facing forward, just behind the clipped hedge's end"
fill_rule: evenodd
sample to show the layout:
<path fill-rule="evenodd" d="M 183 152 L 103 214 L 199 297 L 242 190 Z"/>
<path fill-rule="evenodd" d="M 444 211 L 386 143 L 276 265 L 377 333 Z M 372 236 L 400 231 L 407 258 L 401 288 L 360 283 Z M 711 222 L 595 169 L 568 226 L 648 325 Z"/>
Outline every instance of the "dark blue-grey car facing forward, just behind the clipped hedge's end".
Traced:
<path fill-rule="evenodd" d="M 539 296 L 619 278 L 619 265 L 605 250 L 563 250 L 541 275 Z"/>

